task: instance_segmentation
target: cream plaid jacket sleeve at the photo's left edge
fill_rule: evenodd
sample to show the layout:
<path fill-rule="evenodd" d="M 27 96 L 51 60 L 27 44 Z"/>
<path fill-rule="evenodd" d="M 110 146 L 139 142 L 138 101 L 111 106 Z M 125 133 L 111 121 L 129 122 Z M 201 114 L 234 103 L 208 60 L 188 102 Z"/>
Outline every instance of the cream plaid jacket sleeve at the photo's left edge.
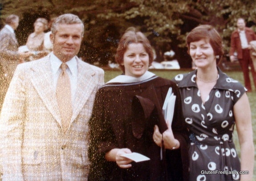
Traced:
<path fill-rule="evenodd" d="M 17 68 L 0 114 L 1 167 L 3 181 L 23 180 L 21 170 L 22 131 L 25 115 L 23 71 Z"/>

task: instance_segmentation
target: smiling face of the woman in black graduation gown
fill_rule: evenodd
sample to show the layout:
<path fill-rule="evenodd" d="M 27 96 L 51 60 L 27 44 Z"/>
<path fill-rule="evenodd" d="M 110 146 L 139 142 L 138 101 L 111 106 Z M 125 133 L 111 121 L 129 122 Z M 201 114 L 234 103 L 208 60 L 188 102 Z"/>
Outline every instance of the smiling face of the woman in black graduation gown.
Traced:
<path fill-rule="evenodd" d="M 126 76 L 142 76 L 149 67 L 149 55 L 143 44 L 131 43 L 124 53 L 123 64 Z"/>

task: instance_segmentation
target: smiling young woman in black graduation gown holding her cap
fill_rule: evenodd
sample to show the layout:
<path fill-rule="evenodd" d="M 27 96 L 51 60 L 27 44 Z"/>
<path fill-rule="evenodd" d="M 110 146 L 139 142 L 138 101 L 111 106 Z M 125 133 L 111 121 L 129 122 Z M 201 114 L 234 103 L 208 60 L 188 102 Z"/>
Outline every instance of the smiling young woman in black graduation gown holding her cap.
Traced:
<path fill-rule="evenodd" d="M 147 71 L 153 50 L 133 27 L 122 36 L 115 59 L 123 74 L 98 90 L 89 122 L 89 181 L 187 180 L 187 129 L 179 89 Z M 162 107 L 170 87 L 176 101 L 172 125 L 167 125 Z M 154 130 L 160 142 L 154 141 Z M 122 156 L 134 152 L 150 160 Z"/>

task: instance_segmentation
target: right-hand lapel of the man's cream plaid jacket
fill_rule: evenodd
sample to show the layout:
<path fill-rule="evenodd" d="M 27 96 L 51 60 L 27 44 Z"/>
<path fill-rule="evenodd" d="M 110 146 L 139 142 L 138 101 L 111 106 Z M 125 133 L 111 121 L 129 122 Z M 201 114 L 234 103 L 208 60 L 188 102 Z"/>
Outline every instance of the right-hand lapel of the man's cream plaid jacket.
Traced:
<path fill-rule="evenodd" d="M 81 63 L 81 60 L 77 58 L 77 92 L 75 96 L 75 104 L 73 107 L 73 116 L 71 119 L 72 122 L 75 120 L 81 109 L 84 107 L 85 102 L 91 96 L 91 93 L 95 88 L 96 84 L 93 81 L 93 75 L 95 74 L 95 72 L 92 71 L 92 69 L 87 64 L 82 65 Z"/>

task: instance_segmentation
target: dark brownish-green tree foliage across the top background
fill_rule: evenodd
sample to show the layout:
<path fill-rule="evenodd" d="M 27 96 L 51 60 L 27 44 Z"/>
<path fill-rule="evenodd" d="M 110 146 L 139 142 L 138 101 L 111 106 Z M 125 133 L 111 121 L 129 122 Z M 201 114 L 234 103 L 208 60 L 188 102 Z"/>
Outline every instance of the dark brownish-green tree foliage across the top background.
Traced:
<path fill-rule="evenodd" d="M 244 17 L 255 29 L 255 7 L 254 0 L 3 0 L 0 18 L 11 13 L 20 16 L 17 34 L 24 44 L 37 17 L 77 14 L 85 22 L 80 56 L 100 64 L 114 60 L 120 36 L 134 26 L 149 38 L 158 61 L 163 60 L 163 52 L 172 49 L 181 67 L 190 67 L 185 38 L 192 28 L 213 25 L 228 52 L 238 17 Z"/>

